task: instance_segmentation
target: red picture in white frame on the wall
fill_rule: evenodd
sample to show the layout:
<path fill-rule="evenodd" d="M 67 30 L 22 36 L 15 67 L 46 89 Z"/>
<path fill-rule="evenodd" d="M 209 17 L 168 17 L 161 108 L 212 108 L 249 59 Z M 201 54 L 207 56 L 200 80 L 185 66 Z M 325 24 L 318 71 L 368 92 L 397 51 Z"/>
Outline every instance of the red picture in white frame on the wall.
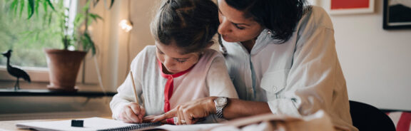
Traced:
<path fill-rule="evenodd" d="M 325 0 L 329 14 L 367 14 L 374 12 L 375 0 Z"/>

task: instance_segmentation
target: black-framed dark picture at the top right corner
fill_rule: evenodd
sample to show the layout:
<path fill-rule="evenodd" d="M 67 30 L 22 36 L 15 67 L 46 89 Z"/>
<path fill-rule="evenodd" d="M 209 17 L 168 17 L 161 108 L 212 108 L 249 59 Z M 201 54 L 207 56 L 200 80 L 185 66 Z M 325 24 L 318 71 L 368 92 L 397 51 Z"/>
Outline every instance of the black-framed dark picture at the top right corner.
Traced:
<path fill-rule="evenodd" d="M 382 28 L 411 28 L 411 1 L 384 0 Z"/>

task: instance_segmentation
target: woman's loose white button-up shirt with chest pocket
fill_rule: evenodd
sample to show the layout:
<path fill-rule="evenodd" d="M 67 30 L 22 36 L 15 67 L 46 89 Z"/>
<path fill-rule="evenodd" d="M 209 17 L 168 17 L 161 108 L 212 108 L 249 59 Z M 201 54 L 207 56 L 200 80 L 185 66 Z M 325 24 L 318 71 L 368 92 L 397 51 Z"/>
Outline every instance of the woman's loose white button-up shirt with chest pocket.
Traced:
<path fill-rule="evenodd" d="M 265 29 L 250 53 L 241 43 L 223 41 L 239 98 L 267 102 L 274 114 L 301 116 L 325 110 L 336 126 L 357 130 L 328 14 L 313 6 L 295 30 L 288 41 L 277 44 Z"/>

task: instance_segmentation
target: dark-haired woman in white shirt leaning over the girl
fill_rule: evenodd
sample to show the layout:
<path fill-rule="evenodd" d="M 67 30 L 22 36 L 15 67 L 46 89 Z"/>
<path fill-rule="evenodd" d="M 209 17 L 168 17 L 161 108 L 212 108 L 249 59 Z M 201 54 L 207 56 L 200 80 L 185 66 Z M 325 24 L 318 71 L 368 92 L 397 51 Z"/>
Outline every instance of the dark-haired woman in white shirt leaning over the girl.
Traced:
<path fill-rule="evenodd" d="M 305 0 L 218 0 L 222 51 L 238 99 L 209 97 L 166 117 L 216 114 L 234 119 L 267 112 L 293 116 L 324 110 L 340 129 L 352 126 L 347 88 L 328 14 Z"/>

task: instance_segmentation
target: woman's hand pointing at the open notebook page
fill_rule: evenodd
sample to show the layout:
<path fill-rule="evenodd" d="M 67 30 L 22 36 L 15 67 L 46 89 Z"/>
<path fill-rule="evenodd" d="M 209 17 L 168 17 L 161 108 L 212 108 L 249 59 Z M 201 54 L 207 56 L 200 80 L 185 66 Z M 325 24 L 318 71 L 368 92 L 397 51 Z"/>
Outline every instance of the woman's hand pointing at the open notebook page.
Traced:
<path fill-rule="evenodd" d="M 170 110 L 163 115 L 151 117 L 151 122 L 163 121 L 168 118 L 177 117 L 178 122 L 176 125 L 194 124 L 202 117 L 207 117 L 210 114 L 215 113 L 214 99 L 216 97 L 201 98 L 193 100 L 188 103 L 177 105 L 176 108 Z"/>

